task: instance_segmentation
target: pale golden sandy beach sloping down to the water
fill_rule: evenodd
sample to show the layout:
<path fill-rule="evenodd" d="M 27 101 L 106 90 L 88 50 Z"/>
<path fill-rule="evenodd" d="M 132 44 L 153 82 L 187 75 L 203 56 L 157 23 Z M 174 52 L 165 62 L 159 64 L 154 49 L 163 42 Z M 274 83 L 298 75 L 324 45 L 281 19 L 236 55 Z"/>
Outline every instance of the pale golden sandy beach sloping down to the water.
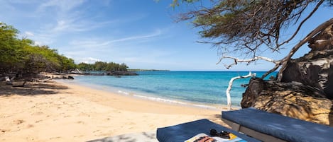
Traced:
<path fill-rule="evenodd" d="M 220 110 L 141 100 L 71 83 L 0 85 L 0 141 L 91 141 L 207 118 Z"/>

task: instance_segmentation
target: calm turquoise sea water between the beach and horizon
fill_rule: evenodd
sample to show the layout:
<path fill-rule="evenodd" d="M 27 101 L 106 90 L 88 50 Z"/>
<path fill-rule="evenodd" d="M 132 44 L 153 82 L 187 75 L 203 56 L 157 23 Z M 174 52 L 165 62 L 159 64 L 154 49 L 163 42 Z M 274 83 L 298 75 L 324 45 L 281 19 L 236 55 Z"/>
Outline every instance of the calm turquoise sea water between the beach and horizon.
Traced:
<path fill-rule="evenodd" d="M 197 105 L 226 105 L 226 88 L 231 78 L 248 71 L 138 71 L 139 76 L 75 76 L 75 82 L 99 86 L 121 95 L 151 100 Z M 253 71 L 257 76 L 265 72 Z M 233 106 L 240 106 L 249 78 L 234 81 L 231 88 Z"/>

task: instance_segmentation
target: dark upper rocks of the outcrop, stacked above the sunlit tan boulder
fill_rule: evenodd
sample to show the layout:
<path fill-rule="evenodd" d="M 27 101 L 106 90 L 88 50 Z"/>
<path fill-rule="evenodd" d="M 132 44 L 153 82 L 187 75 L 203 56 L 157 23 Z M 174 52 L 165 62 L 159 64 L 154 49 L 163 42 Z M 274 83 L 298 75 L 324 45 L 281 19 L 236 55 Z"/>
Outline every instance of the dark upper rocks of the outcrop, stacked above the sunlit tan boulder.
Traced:
<path fill-rule="evenodd" d="M 288 62 L 281 81 L 310 85 L 333 99 L 333 25 L 312 37 L 308 46 L 308 54 Z"/>

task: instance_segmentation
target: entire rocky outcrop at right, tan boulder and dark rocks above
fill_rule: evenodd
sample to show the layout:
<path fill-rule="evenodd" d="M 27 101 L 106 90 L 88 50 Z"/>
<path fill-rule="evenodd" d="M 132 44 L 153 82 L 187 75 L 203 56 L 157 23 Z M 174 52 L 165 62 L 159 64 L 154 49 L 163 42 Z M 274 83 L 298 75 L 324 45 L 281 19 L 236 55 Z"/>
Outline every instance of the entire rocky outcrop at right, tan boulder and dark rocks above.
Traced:
<path fill-rule="evenodd" d="M 312 37 L 308 46 L 308 54 L 290 59 L 281 69 L 280 82 L 252 78 L 241 107 L 333 126 L 333 25 Z"/>

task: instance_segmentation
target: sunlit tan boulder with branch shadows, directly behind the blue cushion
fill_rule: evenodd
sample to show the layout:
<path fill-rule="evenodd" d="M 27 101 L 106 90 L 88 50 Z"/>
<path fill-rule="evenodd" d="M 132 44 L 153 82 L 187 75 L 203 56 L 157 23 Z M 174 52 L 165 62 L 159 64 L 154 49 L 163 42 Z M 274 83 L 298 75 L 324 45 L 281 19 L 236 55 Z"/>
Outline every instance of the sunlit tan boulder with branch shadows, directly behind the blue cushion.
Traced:
<path fill-rule="evenodd" d="M 256 107 L 266 112 L 333 126 L 333 101 L 325 98 L 322 90 L 302 83 L 251 78 L 241 107 Z"/>

